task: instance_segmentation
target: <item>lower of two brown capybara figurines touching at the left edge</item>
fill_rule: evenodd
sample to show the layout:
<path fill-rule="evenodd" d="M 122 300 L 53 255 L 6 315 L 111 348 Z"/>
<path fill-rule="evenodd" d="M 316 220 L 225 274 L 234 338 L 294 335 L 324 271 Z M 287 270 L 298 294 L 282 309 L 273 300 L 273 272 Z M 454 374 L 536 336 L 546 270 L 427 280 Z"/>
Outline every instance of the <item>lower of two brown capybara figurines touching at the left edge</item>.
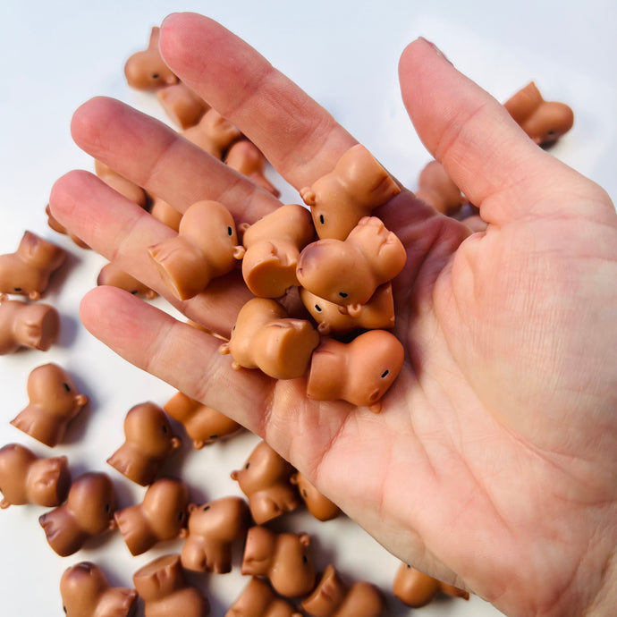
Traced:
<path fill-rule="evenodd" d="M 47 351 L 59 330 L 60 315 L 51 305 L 9 300 L 0 293 L 0 355 L 22 347 Z"/>

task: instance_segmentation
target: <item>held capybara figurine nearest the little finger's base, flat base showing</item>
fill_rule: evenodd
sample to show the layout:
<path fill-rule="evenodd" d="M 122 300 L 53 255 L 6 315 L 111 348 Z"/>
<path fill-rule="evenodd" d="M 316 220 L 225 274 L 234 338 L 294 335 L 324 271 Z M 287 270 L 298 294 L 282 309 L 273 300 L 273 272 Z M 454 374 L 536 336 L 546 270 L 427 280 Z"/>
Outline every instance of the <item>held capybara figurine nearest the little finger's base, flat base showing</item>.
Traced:
<path fill-rule="evenodd" d="M 275 379 L 293 379 L 307 372 L 318 344 L 319 334 L 307 319 L 289 317 L 276 300 L 252 298 L 219 351 L 232 355 L 232 368 L 259 368 Z"/>

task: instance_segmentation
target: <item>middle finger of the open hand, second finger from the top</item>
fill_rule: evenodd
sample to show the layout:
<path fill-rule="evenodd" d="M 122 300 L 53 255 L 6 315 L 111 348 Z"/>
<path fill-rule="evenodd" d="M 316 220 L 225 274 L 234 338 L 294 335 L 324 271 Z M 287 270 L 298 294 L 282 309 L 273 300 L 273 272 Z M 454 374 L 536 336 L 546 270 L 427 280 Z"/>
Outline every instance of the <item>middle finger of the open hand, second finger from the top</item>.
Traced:
<path fill-rule="evenodd" d="M 240 221 L 252 222 L 280 205 L 164 123 L 112 98 L 97 97 L 80 106 L 71 130 L 89 155 L 180 212 L 201 199 L 215 199 Z"/>

